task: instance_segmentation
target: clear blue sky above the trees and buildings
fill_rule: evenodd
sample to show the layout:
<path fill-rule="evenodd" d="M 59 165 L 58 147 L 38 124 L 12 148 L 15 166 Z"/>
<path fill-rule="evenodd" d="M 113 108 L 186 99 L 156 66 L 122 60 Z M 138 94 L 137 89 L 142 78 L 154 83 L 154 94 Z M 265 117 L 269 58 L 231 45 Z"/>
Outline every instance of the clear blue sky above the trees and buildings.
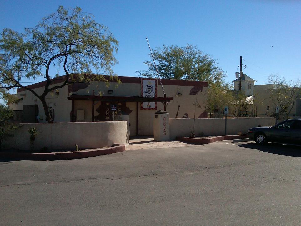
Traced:
<path fill-rule="evenodd" d="M 163 44 L 196 45 L 218 59 L 229 82 L 239 70 L 240 56 L 247 66 L 244 73 L 257 80 L 255 85 L 267 83 L 271 73 L 292 80 L 301 77 L 301 1 L 2 0 L 0 30 L 23 32 L 59 5 L 79 6 L 109 27 L 119 41 L 119 64 L 114 67 L 119 76 L 138 76 L 136 71 L 146 69 L 147 36 L 153 49 Z"/>

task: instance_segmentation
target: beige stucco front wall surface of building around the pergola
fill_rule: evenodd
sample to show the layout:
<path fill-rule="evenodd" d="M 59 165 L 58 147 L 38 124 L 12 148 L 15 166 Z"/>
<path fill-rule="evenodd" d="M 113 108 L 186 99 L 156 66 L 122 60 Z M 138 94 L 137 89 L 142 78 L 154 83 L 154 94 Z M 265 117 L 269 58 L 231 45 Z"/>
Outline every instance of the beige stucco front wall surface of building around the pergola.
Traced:
<path fill-rule="evenodd" d="M 198 118 L 205 110 L 205 100 L 207 98 L 208 88 L 203 87 L 202 91 L 199 91 L 197 95 L 189 95 L 190 90 L 193 86 L 177 86 L 177 85 L 163 85 L 164 91 L 167 97 L 173 97 L 170 103 L 167 105 L 167 112 L 171 118 L 175 118 L 180 105 L 178 118 L 182 118 L 186 113 L 188 118 L 194 117 L 194 102 L 197 102 L 201 108 L 196 108 L 195 117 Z M 106 87 L 103 82 L 91 82 L 90 85 L 85 89 L 80 89 L 73 94 L 77 95 L 92 95 L 94 90 L 95 95 L 102 93 L 104 96 L 141 96 L 141 84 L 140 83 L 122 83 L 116 87 L 116 83 L 111 82 L 109 87 Z M 113 94 L 108 94 L 108 90 L 113 90 Z M 181 96 L 177 96 L 181 93 Z M 161 85 L 158 85 L 157 97 L 163 97 L 163 90 Z M 98 115 L 96 109 L 99 106 L 99 102 L 95 102 L 94 115 Z M 126 106 L 132 110 L 130 113 L 130 134 L 131 136 L 136 135 L 136 102 L 127 102 Z M 77 109 L 85 110 L 84 121 L 92 121 L 92 101 L 74 101 L 74 113 L 76 114 Z M 157 110 L 141 110 L 141 104 L 138 104 L 139 114 L 139 125 L 138 135 L 153 135 L 153 119 L 155 112 L 158 110 L 164 110 L 162 103 L 157 103 Z"/>

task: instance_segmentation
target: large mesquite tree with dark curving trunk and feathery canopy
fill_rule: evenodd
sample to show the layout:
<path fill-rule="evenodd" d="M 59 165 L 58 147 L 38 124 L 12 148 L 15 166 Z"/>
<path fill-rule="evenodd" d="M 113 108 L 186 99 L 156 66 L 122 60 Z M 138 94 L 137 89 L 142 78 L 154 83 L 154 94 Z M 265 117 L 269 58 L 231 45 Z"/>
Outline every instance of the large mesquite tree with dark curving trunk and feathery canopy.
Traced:
<path fill-rule="evenodd" d="M 18 33 L 3 29 L 0 37 L 0 88 L 22 87 L 41 100 L 46 120 L 52 122 L 46 95 L 73 82 L 101 80 L 98 73 L 109 74 L 110 80 L 120 82 L 112 66 L 117 60 L 118 41 L 104 25 L 94 21 L 93 15 L 82 13 L 79 7 L 64 9 L 41 20 L 35 28 Z M 49 69 L 63 69 L 63 77 L 49 74 Z M 21 85 L 24 78 L 44 77 L 42 93 Z M 55 83 L 54 81 L 62 81 Z"/>

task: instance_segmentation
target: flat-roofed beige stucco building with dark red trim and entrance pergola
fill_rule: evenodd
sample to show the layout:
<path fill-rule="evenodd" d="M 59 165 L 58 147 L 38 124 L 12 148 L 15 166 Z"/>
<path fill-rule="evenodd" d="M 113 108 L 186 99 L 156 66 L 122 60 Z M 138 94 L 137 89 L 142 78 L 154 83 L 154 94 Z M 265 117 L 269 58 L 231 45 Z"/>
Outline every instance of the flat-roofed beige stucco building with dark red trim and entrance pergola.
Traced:
<path fill-rule="evenodd" d="M 46 102 L 53 121 L 112 121 L 112 107 L 116 106 L 115 120 L 127 120 L 130 135 L 153 135 L 154 113 L 161 109 L 166 109 L 170 118 L 193 118 L 194 114 L 196 118 L 207 118 L 207 82 L 161 79 L 164 96 L 158 79 L 118 78 L 121 84 L 111 81 L 107 87 L 101 81 L 74 83 L 48 93 Z M 53 85 L 60 85 L 62 82 L 58 79 Z M 41 94 L 45 83 L 39 82 L 28 87 Z M 46 122 L 41 101 L 33 93 L 19 88 L 17 97 L 21 100 L 11 108 L 22 112 L 23 120 Z M 196 100 L 201 107 L 195 110 Z"/>

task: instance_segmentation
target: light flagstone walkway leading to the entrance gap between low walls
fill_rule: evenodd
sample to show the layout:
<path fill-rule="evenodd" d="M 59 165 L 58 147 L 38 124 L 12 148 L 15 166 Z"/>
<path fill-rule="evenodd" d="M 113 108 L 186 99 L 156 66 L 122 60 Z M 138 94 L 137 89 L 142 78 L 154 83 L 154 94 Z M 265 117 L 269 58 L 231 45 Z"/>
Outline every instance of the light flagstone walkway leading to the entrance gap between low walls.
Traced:
<path fill-rule="evenodd" d="M 152 136 L 130 137 L 128 143 L 129 145 L 125 147 L 126 150 L 196 146 L 181 141 L 154 141 Z"/>

